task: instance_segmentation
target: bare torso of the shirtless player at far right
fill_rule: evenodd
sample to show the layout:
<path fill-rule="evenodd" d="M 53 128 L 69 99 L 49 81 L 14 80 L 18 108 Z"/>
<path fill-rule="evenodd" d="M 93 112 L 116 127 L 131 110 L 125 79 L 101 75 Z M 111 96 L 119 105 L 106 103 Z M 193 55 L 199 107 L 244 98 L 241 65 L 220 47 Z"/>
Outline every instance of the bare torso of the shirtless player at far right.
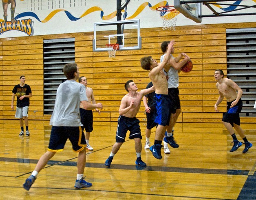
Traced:
<path fill-rule="evenodd" d="M 236 83 L 228 78 L 223 78 L 223 81 L 221 83 L 216 83 L 217 89 L 227 99 L 227 102 L 231 102 L 236 99 L 236 86 Z"/>

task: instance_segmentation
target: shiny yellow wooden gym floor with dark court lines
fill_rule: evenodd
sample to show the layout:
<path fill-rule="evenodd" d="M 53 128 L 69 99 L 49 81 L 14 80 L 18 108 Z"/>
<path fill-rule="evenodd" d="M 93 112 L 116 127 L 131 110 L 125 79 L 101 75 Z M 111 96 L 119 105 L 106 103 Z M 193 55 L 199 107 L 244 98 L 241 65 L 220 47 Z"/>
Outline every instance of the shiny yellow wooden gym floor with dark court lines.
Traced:
<path fill-rule="evenodd" d="M 230 153 L 231 136 L 221 123 L 177 123 L 175 140 L 180 145 L 163 159 L 142 149 L 146 168 L 135 165 L 134 141 L 126 138 L 110 168 L 104 165 L 115 142 L 115 127 L 94 126 L 87 151 L 86 181 L 92 187 L 75 189 L 77 153 L 68 141 L 63 152 L 49 161 L 29 191 L 22 184 L 47 150 L 49 121 L 29 121 L 30 137 L 20 138 L 18 120 L 0 120 L 0 199 L 4 200 L 255 200 L 256 127 L 241 124 L 253 146 Z M 154 131 L 150 137 L 154 143 Z M 145 124 L 141 123 L 145 144 Z M 239 138 L 239 135 L 237 135 Z M 238 140 L 241 140 L 239 138 Z"/>

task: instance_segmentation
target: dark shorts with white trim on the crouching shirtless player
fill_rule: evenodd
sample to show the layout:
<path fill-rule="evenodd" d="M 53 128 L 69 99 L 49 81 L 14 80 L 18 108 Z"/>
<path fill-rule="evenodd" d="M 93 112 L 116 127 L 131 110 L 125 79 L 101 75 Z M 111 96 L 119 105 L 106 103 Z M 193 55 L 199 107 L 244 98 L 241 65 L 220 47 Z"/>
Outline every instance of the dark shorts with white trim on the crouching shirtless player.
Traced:
<path fill-rule="evenodd" d="M 130 131 L 129 139 L 142 139 L 139 120 L 136 117 L 130 118 L 120 115 L 118 118 L 117 133 L 115 137 L 116 142 L 124 142 L 128 130 Z"/>

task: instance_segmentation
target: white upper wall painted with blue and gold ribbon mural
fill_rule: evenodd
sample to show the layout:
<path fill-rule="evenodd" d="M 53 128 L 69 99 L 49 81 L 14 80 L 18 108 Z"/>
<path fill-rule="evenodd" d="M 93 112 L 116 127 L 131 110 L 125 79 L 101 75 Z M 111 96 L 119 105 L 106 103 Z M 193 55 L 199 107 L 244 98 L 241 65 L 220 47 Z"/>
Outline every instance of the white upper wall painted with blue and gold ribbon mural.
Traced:
<path fill-rule="evenodd" d="M 253 4 L 256 3 L 256 0 L 249 1 L 253 2 Z M 220 5 L 214 6 L 222 11 L 232 11 L 235 10 L 237 8 L 236 5 L 241 4 L 241 2 L 242 0 L 238 0 L 234 2 L 232 6 L 227 7 Z M 99 22 L 99 20 L 115 21 L 117 13 L 116 0 L 112 0 L 111 3 L 110 1 L 106 2 L 103 0 L 77 0 L 76 2 L 65 2 L 65 0 L 31 0 L 31 2 L 25 2 L 24 0 L 17 0 L 16 2 L 15 0 L 2 0 L 2 4 L 3 19 L 0 19 L 0 34 L 6 33 L 4 34 L 4 37 L 9 37 L 8 34 L 11 31 L 15 31 L 15 33 L 17 31 L 22 32 L 29 36 L 41 33 L 58 34 L 64 32 L 75 32 L 75 30 L 77 30 L 77 32 L 93 31 L 94 22 Z M 93 6 L 93 4 L 95 4 L 95 6 Z M 148 20 L 146 25 L 141 23 L 142 28 L 149 28 L 147 27 L 149 22 L 151 23 L 151 27 L 161 27 L 160 17 L 159 19 L 156 19 L 156 16 L 159 15 L 159 13 L 156 12 L 156 8 L 172 4 L 173 0 L 152 0 L 151 2 L 135 0 L 128 4 L 127 12 L 124 13 L 125 11 L 123 10 L 122 13 L 126 16 L 126 19 L 141 19 L 143 22 Z M 79 15 L 78 13 L 82 14 Z M 240 18 L 241 17 L 239 17 L 239 19 Z M 154 23 L 155 20 L 159 20 L 159 23 Z M 187 25 L 184 24 L 184 21 L 185 20 L 182 21 L 183 24 L 180 24 L 180 26 Z M 190 21 L 192 20 L 188 19 L 185 22 L 188 22 L 188 25 L 193 23 L 195 24 L 195 22 Z M 62 30 L 61 26 L 56 27 L 56 30 L 53 30 L 53 24 L 58 22 L 70 27 L 70 30 L 66 30 L 66 27 L 63 27 L 65 30 Z M 207 20 L 205 22 L 207 22 Z M 45 25 L 42 25 L 42 23 Z M 177 26 L 179 26 L 179 22 L 177 22 Z M 44 29 L 43 32 L 42 29 Z"/>

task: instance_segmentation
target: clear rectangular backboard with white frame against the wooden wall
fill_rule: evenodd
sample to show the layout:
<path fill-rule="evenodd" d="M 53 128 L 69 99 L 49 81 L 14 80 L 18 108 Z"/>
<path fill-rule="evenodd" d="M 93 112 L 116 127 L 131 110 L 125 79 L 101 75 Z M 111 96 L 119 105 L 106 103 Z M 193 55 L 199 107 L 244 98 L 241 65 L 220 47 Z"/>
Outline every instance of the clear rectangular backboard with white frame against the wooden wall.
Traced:
<path fill-rule="evenodd" d="M 94 52 L 107 51 L 106 44 L 116 43 L 119 51 L 141 49 L 139 19 L 94 23 Z"/>

